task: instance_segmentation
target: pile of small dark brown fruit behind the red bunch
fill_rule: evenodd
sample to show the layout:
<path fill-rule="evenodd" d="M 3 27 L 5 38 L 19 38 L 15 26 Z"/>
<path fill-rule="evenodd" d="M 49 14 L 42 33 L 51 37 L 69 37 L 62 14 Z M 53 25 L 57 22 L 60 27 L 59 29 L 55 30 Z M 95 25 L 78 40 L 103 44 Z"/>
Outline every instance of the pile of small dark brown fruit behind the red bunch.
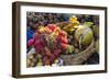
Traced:
<path fill-rule="evenodd" d="M 36 30 L 41 25 L 45 26 L 47 24 L 64 22 L 69 19 L 69 14 L 62 13 L 28 12 L 26 15 L 28 26 L 32 30 Z"/>

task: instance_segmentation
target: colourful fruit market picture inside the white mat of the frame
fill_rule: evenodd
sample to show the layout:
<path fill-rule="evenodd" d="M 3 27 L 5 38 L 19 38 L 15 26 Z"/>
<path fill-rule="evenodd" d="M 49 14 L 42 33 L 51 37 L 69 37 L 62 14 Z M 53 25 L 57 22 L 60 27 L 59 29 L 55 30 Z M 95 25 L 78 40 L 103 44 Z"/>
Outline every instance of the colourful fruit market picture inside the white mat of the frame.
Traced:
<path fill-rule="evenodd" d="M 26 12 L 26 67 L 99 64 L 99 16 Z"/>

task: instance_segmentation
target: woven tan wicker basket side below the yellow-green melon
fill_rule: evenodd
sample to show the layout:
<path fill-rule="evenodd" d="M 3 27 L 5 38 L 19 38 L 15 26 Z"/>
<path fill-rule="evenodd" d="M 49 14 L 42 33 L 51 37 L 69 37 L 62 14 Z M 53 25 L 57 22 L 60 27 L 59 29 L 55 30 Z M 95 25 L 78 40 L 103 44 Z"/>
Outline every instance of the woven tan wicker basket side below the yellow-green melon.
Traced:
<path fill-rule="evenodd" d="M 81 65 L 86 61 L 94 53 L 96 52 L 95 48 L 95 41 L 84 50 L 75 55 L 61 55 L 61 58 L 64 59 L 64 65 Z"/>

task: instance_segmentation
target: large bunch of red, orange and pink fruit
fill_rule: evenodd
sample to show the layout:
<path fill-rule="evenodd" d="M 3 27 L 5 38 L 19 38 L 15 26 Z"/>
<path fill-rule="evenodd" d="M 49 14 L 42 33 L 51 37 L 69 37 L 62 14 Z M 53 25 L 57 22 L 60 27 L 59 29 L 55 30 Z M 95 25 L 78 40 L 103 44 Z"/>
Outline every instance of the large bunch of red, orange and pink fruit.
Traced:
<path fill-rule="evenodd" d="M 43 65 L 52 65 L 62 53 L 67 50 L 67 33 L 55 24 L 40 27 L 32 39 L 29 41 L 29 47 L 34 47 L 36 54 L 42 55 Z"/>

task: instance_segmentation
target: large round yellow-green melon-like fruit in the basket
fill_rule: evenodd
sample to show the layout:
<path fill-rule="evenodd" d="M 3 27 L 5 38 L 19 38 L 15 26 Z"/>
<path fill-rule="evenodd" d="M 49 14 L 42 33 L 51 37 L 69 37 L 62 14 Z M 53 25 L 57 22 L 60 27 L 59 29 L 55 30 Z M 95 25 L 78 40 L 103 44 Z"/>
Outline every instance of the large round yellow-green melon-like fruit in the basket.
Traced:
<path fill-rule="evenodd" d="M 94 38 L 94 34 L 90 27 L 86 25 L 79 25 L 79 27 L 75 32 L 75 38 L 81 45 L 89 45 Z"/>

